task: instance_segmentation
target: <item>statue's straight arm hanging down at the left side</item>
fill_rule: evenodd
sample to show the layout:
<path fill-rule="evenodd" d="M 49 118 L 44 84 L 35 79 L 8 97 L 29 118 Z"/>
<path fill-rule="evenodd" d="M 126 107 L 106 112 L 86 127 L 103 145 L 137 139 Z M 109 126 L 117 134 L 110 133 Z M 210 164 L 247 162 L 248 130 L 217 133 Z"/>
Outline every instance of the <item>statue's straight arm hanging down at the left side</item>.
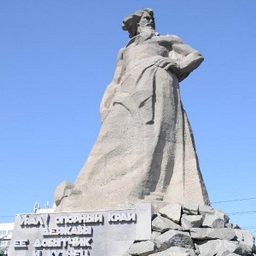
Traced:
<path fill-rule="evenodd" d="M 124 73 L 124 61 L 123 61 L 123 51 L 124 49 L 119 50 L 119 54 L 116 61 L 116 68 L 113 75 L 113 80 L 110 84 L 108 84 L 107 89 L 104 92 L 104 95 L 102 97 L 102 102 L 100 106 L 100 113 L 102 118 L 102 123 L 104 119 L 108 116 L 109 108 L 111 106 L 111 103 L 113 102 L 113 97 L 115 96 L 118 88 L 120 80 L 123 77 Z"/>

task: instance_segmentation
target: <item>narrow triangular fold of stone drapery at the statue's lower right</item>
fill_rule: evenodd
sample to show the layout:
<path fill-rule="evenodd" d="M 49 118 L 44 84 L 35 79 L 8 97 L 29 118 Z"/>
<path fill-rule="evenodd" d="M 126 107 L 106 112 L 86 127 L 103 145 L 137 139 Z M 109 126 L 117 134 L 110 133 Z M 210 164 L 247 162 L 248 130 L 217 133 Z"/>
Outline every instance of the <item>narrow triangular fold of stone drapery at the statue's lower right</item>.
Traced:
<path fill-rule="evenodd" d="M 181 139 L 177 143 L 172 180 L 164 200 L 171 202 L 197 201 L 210 205 L 207 189 L 201 176 L 189 119 L 183 108 L 181 109 L 180 131 L 177 131 L 177 136 Z"/>

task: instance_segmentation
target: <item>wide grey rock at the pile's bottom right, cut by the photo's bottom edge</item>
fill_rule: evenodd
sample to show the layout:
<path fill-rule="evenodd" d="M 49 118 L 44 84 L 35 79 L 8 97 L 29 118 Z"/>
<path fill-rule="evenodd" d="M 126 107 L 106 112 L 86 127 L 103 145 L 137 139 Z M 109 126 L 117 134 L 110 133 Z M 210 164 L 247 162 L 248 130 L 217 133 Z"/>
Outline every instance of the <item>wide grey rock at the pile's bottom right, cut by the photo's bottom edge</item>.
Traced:
<path fill-rule="evenodd" d="M 246 248 L 242 247 L 238 241 L 227 240 L 210 240 L 198 241 L 201 256 L 228 255 L 224 253 L 236 253 L 238 255 L 247 255 L 249 253 Z"/>

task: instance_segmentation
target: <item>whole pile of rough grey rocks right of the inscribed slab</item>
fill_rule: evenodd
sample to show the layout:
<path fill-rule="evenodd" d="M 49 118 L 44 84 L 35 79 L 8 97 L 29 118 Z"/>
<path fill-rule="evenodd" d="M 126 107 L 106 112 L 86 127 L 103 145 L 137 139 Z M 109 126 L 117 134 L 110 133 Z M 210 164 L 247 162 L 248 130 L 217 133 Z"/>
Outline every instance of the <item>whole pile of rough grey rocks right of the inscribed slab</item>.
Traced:
<path fill-rule="evenodd" d="M 190 207 L 191 208 L 191 207 Z M 150 255 L 198 255 L 198 256 L 253 256 L 255 253 L 254 237 L 247 230 L 238 229 L 237 224 L 229 224 L 229 217 L 220 210 L 214 210 L 212 207 L 199 207 L 202 215 L 187 215 L 182 214 L 181 225 L 183 231 L 166 229 L 166 222 L 171 222 L 170 213 L 175 212 L 179 208 L 177 204 L 171 204 L 160 209 L 160 212 L 165 216 L 156 215 L 153 222 L 153 231 L 150 240 L 160 250 L 159 253 Z M 160 214 L 158 212 L 158 214 Z M 179 214 L 177 214 L 179 215 Z M 209 215 L 209 216 L 208 216 Z M 169 217 L 169 218 L 168 218 Z M 223 226 L 221 228 L 202 227 L 202 219 L 206 218 L 212 226 Z M 179 217 L 177 218 L 179 219 Z M 211 221 L 210 221 L 211 220 Z M 220 223 L 220 224 L 219 224 Z M 195 228 L 195 226 L 200 226 Z M 179 225 L 175 224 L 175 227 Z M 189 232 L 184 232 L 188 230 Z M 173 249 L 175 247 L 175 249 Z M 176 247 L 189 247 L 189 250 L 184 250 Z M 183 254 L 185 253 L 185 254 Z M 131 254 L 129 254 L 131 255 Z M 127 255 L 127 256 L 129 256 Z M 124 255 L 126 256 L 126 255 Z"/>

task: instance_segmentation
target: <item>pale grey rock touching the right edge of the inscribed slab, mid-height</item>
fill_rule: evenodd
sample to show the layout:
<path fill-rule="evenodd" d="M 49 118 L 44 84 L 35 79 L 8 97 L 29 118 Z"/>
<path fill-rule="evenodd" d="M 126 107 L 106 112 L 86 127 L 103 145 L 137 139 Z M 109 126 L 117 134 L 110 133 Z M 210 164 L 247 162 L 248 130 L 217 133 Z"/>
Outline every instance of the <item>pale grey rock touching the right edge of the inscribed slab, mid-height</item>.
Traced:
<path fill-rule="evenodd" d="M 171 219 L 157 216 L 152 221 L 152 230 L 164 233 L 167 230 L 182 230 L 182 227 L 174 223 Z"/>

